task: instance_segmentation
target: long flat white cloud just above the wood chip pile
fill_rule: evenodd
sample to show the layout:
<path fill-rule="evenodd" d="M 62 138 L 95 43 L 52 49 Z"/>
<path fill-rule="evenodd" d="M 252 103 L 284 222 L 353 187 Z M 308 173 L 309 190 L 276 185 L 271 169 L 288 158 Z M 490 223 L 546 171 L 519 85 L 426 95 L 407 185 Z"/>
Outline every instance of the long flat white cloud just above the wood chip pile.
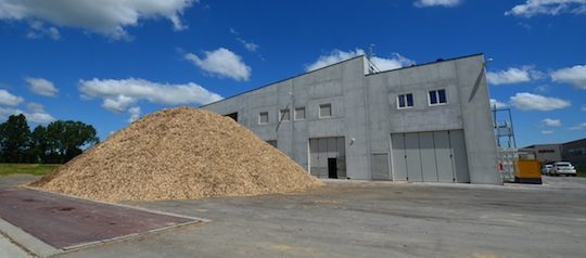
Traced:
<path fill-rule="evenodd" d="M 79 91 L 84 98 L 102 99 L 102 106 L 113 112 L 124 112 L 139 100 L 165 105 L 198 105 L 222 99 L 193 82 L 169 85 L 135 78 L 80 80 Z"/>

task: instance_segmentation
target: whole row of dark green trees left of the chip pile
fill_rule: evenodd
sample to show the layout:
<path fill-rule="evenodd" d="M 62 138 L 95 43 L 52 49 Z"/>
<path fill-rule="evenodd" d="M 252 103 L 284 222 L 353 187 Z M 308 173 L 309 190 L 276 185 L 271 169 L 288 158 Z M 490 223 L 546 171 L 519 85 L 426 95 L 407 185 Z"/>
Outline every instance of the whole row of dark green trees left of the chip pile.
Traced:
<path fill-rule="evenodd" d="M 0 124 L 0 163 L 63 164 L 100 141 L 81 121 L 55 120 L 33 131 L 23 114 Z"/>

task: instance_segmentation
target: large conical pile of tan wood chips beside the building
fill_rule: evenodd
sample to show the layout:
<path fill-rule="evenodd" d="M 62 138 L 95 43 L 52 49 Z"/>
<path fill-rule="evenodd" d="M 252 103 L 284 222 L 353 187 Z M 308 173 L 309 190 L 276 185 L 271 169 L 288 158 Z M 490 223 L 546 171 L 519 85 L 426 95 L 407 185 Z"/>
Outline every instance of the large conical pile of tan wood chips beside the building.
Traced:
<path fill-rule="evenodd" d="M 231 118 L 177 107 L 145 116 L 31 185 L 118 202 L 251 196 L 320 184 Z"/>

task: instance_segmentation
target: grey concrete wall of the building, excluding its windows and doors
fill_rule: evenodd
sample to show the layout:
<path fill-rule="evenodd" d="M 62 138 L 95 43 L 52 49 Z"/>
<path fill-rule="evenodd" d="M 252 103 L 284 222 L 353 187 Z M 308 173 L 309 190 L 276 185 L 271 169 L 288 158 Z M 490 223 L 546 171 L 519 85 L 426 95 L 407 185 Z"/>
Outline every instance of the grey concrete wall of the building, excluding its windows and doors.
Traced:
<path fill-rule="evenodd" d="M 500 184 L 483 62 L 483 55 L 473 55 L 365 75 L 367 61 L 359 56 L 203 108 L 238 112 L 242 125 L 263 140 L 277 140 L 305 168 L 308 139 L 345 137 L 351 179 L 372 179 L 371 155 L 391 152 L 391 133 L 463 129 L 471 182 Z M 431 89 L 446 89 L 447 104 L 429 106 Z M 413 93 L 413 108 L 397 109 L 400 93 Z M 332 116 L 319 118 L 326 103 Z M 279 125 L 285 107 L 291 120 Z M 294 120 L 295 107 L 306 108 L 304 120 Z M 260 112 L 269 112 L 268 124 L 258 125 Z"/>

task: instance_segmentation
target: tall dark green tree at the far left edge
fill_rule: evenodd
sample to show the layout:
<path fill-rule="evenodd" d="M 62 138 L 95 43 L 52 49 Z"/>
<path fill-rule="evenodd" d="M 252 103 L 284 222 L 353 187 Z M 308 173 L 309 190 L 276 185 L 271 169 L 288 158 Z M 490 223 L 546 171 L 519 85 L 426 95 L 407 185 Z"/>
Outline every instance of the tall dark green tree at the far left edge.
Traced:
<path fill-rule="evenodd" d="M 0 125 L 0 158 L 3 163 L 28 162 L 30 129 L 23 114 L 12 115 Z"/>

